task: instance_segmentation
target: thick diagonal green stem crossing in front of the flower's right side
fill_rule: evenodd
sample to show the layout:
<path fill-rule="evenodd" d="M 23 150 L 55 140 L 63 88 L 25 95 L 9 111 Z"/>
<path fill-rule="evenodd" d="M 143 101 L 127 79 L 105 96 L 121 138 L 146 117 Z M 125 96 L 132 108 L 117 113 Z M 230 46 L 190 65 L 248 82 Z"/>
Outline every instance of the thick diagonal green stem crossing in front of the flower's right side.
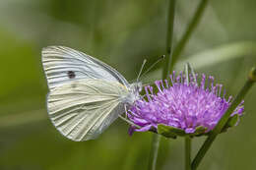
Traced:
<path fill-rule="evenodd" d="M 207 140 L 203 143 L 200 150 L 198 151 L 196 157 L 194 158 L 192 162 L 192 170 L 196 170 L 202 159 L 204 158 L 206 152 L 209 150 L 212 143 L 215 141 L 217 136 L 221 133 L 221 131 L 224 128 L 224 125 L 226 124 L 228 118 L 236 108 L 236 106 L 241 102 L 241 100 L 244 98 L 245 94 L 249 91 L 251 86 L 255 83 L 255 77 L 256 77 L 256 68 L 253 68 L 250 72 L 249 78 L 246 81 L 245 85 L 240 89 L 237 96 L 234 98 L 233 102 L 229 106 L 229 108 L 226 110 L 224 116 L 219 121 L 215 129 L 213 130 L 213 133 L 207 138 Z"/>

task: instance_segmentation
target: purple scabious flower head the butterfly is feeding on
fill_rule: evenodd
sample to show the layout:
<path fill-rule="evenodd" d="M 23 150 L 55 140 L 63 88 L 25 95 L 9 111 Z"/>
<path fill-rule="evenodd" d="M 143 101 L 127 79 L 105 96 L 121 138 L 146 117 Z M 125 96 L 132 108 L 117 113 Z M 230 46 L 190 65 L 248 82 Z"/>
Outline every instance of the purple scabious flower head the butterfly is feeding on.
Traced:
<path fill-rule="evenodd" d="M 181 130 L 185 135 L 195 135 L 199 129 L 203 135 L 211 132 L 229 107 L 231 96 L 226 99 L 225 92 L 222 92 L 223 85 L 215 85 L 212 76 L 207 79 L 202 74 L 201 82 L 197 83 L 197 80 L 197 75 L 186 79 L 182 72 L 178 75 L 173 72 L 170 81 L 156 81 L 156 94 L 153 86 L 146 86 L 145 96 L 126 113 L 130 121 L 137 125 L 131 126 L 129 133 L 158 132 L 159 125 Z M 243 110 L 241 102 L 229 119 L 236 117 L 237 124 Z"/>

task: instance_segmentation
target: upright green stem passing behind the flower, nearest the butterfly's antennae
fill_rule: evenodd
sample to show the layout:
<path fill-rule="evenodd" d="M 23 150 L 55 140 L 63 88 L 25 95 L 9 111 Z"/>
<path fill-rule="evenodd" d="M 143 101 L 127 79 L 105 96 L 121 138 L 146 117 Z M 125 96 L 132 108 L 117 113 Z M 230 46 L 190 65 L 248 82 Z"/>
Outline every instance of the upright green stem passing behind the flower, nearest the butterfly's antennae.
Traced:
<path fill-rule="evenodd" d="M 168 0 L 167 9 L 167 30 L 166 30 L 166 61 L 162 69 L 162 79 L 166 79 L 172 70 L 172 36 L 173 36 L 173 25 L 175 15 L 175 2 L 176 0 Z M 160 147 L 160 136 L 158 134 L 153 135 L 152 148 L 149 160 L 149 170 L 156 170 L 158 153 Z"/>

